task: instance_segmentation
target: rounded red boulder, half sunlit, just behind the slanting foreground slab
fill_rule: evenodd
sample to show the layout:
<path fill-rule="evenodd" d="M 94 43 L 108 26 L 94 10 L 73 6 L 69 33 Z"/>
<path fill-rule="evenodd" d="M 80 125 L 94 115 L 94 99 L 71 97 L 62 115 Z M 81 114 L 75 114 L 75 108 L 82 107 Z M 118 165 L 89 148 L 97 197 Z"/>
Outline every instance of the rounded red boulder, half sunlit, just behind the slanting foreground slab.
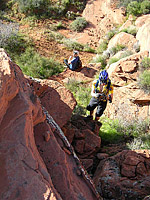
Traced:
<path fill-rule="evenodd" d="M 76 106 L 73 94 L 54 80 L 29 79 L 30 85 L 60 127 L 70 120 Z"/>

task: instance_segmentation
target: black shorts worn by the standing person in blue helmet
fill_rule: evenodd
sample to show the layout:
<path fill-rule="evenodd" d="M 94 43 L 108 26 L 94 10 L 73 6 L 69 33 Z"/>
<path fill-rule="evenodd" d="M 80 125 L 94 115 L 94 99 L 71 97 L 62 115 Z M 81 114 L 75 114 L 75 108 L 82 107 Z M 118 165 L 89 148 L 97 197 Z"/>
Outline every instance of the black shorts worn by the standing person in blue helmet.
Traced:
<path fill-rule="evenodd" d="M 87 106 L 87 110 L 93 111 L 96 107 L 96 117 L 100 117 L 104 110 L 106 109 L 107 101 L 100 101 L 95 97 L 92 97 L 90 100 L 89 105 Z"/>

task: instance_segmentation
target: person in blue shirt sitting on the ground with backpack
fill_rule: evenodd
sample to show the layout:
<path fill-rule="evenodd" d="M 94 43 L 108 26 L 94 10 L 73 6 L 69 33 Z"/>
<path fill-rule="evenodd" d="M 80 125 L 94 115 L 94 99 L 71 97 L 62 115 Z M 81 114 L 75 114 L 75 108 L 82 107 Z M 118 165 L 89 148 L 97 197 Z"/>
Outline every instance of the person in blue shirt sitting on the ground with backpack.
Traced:
<path fill-rule="evenodd" d="M 72 71 L 76 71 L 82 68 L 82 62 L 80 60 L 78 51 L 74 51 L 73 56 L 70 56 L 68 60 L 65 59 L 64 63 L 66 64 L 65 67 L 68 67 Z"/>

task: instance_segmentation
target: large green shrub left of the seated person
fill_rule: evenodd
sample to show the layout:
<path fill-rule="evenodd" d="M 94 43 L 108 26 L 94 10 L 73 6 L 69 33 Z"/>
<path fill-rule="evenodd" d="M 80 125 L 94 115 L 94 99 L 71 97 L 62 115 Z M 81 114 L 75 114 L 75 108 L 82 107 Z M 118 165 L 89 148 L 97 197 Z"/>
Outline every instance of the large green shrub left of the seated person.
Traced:
<path fill-rule="evenodd" d="M 21 56 L 16 56 L 15 61 L 24 74 L 34 78 L 46 79 L 63 71 L 63 66 L 60 63 L 52 58 L 42 57 L 30 47 Z"/>

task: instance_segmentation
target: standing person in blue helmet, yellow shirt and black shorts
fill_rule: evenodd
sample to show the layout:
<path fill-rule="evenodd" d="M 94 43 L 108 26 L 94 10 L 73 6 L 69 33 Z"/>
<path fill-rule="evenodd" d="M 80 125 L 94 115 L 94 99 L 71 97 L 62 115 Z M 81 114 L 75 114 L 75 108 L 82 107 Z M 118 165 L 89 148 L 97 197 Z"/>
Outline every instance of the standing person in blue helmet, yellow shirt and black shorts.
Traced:
<path fill-rule="evenodd" d="M 90 117 L 93 118 L 94 109 L 97 107 L 95 121 L 98 121 L 106 109 L 107 101 L 109 100 L 111 103 L 113 99 L 113 86 L 106 70 L 101 71 L 99 79 L 93 81 L 91 95 L 87 110 L 90 111 Z"/>

